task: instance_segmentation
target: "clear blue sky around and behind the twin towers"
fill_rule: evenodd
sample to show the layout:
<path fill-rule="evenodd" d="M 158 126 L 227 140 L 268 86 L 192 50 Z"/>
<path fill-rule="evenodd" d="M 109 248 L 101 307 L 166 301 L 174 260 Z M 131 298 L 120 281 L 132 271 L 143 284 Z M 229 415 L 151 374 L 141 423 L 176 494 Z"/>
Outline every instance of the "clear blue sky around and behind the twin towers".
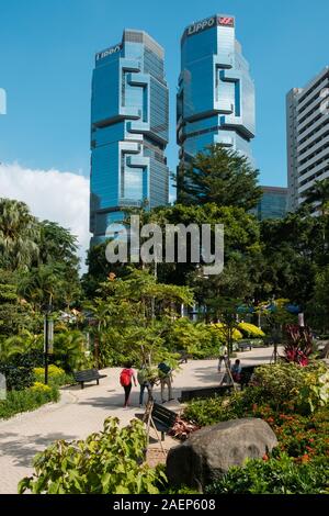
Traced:
<path fill-rule="evenodd" d="M 285 93 L 329 64 L 328 0 L 1 0 L 0 88 L 8 93 L 8 114 L 0 116 L 0 162 L 89 175 L 94 53 L 133 27 L 166 49 L 167 155 L 174 169 L 180 36 L 185 25 L 216 12 L 236 15 L 256 82 L 253 155 L 261 183 L 285 186 Z"/>

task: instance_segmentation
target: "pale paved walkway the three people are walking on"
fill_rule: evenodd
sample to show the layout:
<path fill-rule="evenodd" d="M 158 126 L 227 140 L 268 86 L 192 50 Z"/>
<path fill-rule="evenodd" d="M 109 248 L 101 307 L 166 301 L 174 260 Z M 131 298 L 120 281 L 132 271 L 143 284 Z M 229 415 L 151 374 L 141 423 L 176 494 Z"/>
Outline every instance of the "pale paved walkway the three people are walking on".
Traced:
<path fill-rule="evenodd" d="M 253 349 L 238 354 L 242 366 L 269 362 L 272 348 Z M 37 411 L 18 415 L 0 422 L 0 494 L 16 493 L 18 482 L 32 474 L 32 460 L 56 439 L 83 439 L 102 429 L 107 416 L 116 416 L 122 425 L 129 423 L 135 414 L 143 414 L 138 407 L 138 388 L 133 388 L 132 407 L 123 411 L 123 389 L 118 377 L 121 369 L 106 369 L 107 378 L 100 385 L 86 384 L 64 388 L 59 403 L 44 405 Z M 218 384 L 216 360 L 191 360 L 182 364 L 173 382 L 173 395 L 178 397 L 182 389 L 212 386 Z M 155 397 L 160 399 L 159 388 Z M 178 410 L 177 401 L 166 406 Z M 158 444 L 156 444 L 158 446 Z M 177 441 L 166 437 L 169 449 Z M 155 440 L 154 440 L 155 446 Z"/>

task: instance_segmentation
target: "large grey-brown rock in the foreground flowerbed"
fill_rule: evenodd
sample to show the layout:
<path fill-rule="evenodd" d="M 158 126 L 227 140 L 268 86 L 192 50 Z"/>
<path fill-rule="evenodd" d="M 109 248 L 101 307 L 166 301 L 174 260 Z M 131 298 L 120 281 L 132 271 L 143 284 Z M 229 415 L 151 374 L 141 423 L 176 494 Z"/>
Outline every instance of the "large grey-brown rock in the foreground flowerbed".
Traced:
<path fill-rule="evenodd" d="M 223 476 L 232 465 L 262 458 L 277 445 L 262 419 L 243 418 L 218 423 L 192 434 L 168 453 L 167 475 L 173 485 L 202 487 Z"/>

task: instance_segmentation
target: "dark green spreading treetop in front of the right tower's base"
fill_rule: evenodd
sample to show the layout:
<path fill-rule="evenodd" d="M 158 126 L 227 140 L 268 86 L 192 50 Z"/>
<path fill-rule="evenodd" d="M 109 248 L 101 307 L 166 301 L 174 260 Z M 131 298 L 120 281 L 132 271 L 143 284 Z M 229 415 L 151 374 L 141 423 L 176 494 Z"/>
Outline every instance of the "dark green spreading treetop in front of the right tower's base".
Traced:
<path fill-rule="evenodd" d="M 178 201 L 183 204 L 214 202 L 248 211 L 262 195 L 257 186 L 259 171 L 249 159 L 222 144 L 211 145 L 190 164 L 182 164 L 178 178 Z"/>

